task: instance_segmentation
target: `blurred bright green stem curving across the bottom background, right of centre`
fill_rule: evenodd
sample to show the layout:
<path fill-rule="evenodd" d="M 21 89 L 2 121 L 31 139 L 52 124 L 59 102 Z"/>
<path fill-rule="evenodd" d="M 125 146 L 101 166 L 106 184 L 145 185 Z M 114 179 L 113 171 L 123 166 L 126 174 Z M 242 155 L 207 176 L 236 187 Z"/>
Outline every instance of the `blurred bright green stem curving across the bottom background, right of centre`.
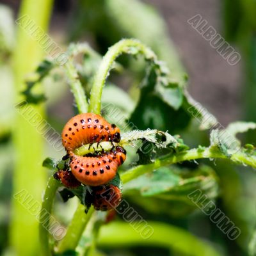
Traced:
<path fill-rule="evenodd" d="M 143 232 L 141 232 L 143 228 L 135 221 L 132 223 L 124 221 L 109 223 L 100 229 L 97 245 L 104 246 L 104 248 L 125 248 L 137 245 L 159 246 L 175 250 L 177 255 L 222 255 L 213 246 L 193 236 L 187 230 L 156 221 L 148 221 L 147 225 L 154 230 L 148 239 L 143 237 Z"/>

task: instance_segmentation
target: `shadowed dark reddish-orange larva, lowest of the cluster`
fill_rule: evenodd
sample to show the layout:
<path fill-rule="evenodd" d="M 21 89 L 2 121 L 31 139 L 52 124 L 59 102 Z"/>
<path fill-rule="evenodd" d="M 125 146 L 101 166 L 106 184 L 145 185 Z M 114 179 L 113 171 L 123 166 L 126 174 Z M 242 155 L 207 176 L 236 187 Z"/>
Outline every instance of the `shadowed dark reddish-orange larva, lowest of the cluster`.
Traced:
<path fill-rule="evenodd" d="M 122 194 L 118 187 L 109 185 L 97 188 L 93 192 L 93 206 L 97 211 L 109 211 L 115 209 L 121 202 Z"/>

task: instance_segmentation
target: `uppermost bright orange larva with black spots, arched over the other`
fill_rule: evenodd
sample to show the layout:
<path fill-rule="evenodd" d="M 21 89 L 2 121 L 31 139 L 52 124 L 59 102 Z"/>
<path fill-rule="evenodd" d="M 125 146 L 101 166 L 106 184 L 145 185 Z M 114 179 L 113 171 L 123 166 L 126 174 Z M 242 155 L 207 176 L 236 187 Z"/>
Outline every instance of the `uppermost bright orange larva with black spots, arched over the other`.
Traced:
<path fill-rule="evenodd" d="M 120 141 L 120 129 L 102 116 L 83 113 L 72 117 L 62 132 L 62 143 L 67 152 L 84 144 L 99 141 Z"/>

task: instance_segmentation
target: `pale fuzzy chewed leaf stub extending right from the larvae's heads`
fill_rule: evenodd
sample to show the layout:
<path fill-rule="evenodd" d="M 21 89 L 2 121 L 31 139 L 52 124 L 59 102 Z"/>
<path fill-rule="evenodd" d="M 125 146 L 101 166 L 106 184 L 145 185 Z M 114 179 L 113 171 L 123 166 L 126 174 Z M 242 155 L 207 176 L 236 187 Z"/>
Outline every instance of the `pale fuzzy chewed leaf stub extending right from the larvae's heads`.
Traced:
<path fill-rule="evenodd" d="M 178 141 L 168 132 L 157 131 L 156 129 L 151 130 L 147 129 L 145 131 L 134 130 L 131 132 L 126 132 L 122 135 L 122 140 L 120 143 L 122 144 L 131 144 L 136 140 L 147 140 L 157 148 L 166 148 L 172 146 L 173 148 L 177 147 Z"/>

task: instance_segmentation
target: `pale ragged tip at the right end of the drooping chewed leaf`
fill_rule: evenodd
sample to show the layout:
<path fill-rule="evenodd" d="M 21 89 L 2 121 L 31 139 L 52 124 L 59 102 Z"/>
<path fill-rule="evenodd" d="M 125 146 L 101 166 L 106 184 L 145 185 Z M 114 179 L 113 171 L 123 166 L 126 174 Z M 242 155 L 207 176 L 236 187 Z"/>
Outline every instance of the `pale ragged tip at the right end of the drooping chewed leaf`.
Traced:
<path fill-rule="evenodd" d="M 191 116 L 198 120 L 200 123 L 200 130 L 210 129 L 218 124 L 216 117 L 207 111 L 207 109 L 204 108 L 199 102 L 196 102 L 196 100 L 193 99 L 187 91 L 184 92 L 183 108 L 185 108 Z"/>

